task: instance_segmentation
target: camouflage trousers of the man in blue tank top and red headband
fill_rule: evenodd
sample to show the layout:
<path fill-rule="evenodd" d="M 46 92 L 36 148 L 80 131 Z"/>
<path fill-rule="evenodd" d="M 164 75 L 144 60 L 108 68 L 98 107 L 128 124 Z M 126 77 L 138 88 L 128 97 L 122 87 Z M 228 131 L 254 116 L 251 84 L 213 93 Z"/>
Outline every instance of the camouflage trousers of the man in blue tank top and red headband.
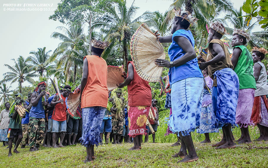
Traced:
<path fill-rule="evenodd" d="M 29 146 L 39 147 L 45 135 L 45 119 L 30 117 L 29 128 Z"/>

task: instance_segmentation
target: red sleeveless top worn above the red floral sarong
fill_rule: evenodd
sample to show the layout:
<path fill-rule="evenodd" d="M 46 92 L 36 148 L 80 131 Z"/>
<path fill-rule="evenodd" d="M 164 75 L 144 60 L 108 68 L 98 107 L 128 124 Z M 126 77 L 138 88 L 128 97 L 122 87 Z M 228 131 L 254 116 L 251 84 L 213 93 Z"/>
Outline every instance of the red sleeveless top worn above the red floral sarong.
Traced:
<path fill-rule="evenodd" d="M 137 74 L 133 61 L 134 78 L 128 84 L 128 105 L 129 106 L 150 106 L 152 104 L 152 92 L 148 81 L 141 79 Z"/>

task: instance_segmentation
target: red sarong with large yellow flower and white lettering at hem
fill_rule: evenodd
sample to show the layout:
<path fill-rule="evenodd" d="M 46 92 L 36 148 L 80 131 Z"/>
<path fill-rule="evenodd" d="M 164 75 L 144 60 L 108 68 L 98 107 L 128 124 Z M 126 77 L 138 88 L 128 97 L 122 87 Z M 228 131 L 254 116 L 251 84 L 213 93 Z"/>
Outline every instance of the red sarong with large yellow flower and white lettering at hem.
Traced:
<path fill-rule="evenodd" d="M 128 127 L 130 137 L 146 135 L 146 121 L 150 106 L 128 106 Z"/>

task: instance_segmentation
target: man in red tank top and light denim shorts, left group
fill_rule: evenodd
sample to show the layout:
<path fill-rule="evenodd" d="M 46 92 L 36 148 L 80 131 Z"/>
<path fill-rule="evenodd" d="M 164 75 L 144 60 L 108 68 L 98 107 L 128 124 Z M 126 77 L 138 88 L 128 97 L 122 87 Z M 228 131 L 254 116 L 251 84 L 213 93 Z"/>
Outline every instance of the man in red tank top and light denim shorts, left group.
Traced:
<path fill-rule="evenodd" d="M 59 99 L 58 94 L 56 94 L 51 101 L 50 105 L 55 106 L 54 111 L 52 114 L 52 141 L 53 141 L 53 147 L 58 148 L 58 147 L 64 147 L 62 145 L 65 133 L 66 133 L 66 128 L 67 128 L 67 123 L 66 123 L 66 103 L 65 99 L 68 96 L 72 88 L 69 85 L 64 86 L 63 91 L 61 93 L 62 99 Z M 59 130 L 59 125 L 61 126 L 61 130 Z M 60 141 L 59 141 L 59 146 L 57 146 L 56 141 L 57 141 L 57 134 L 60 133 Z"/>

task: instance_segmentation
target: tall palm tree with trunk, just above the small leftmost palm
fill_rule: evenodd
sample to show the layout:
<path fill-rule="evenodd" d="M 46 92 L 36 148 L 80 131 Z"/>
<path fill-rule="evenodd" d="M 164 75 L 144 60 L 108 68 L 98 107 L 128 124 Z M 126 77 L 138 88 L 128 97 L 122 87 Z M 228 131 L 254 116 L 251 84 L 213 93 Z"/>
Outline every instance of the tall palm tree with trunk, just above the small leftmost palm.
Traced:
<path fill-rule="evenodd" d="M 10 72 L 4 73 L 4 79 L 0 81 L 0 84 L 11 81 L 11 84 L 14 82 L 19 82 L 19 92 L 21 93 L 21 84 L 24 81 L 28 81 L 29 83 L 33 84 L 34 79 L 33 77 L 37 77 L 38 75 L 35 74 L 35 71 L 31 71 L 30 66 L 28 65 L 27 60 L 25 60 L 22 56 L 19 56 L 17 60 L 14 58 L 11 59 L 14 61 L 14 66 L 10 66 L 8 64 L 4 64 L 7 68 L 9 68 Z"/>

